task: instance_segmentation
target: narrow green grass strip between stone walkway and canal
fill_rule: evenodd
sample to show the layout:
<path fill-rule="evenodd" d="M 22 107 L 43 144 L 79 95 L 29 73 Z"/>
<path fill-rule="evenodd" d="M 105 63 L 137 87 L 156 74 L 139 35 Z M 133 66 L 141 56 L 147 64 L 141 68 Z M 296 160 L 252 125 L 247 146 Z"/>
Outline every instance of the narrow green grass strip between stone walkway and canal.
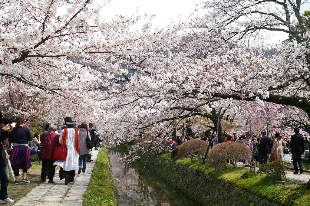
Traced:
<path fill-rule="evenodd" d="M 82 205 L 114 206 L 114 200 L 117 197 L 113 195 L 116 189 L 111 182 L 108 152 L 99 150 Z"/>

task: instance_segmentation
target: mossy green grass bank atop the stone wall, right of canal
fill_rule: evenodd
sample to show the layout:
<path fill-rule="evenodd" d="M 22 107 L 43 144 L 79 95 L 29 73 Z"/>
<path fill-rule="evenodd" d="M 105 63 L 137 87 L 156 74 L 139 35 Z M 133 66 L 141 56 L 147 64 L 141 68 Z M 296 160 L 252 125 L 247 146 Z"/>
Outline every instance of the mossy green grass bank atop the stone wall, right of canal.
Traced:
<path fill-rule="evenodd" d="M 248 175 L 248 169 L 242 167 L 233 168 L 232 165 L 228 165 L 228 169 L 219 168 L 218 171 L 215 171 L 215 168 L 206 167 L 206 165 L 202 164 L 200 161 L 192 162 L 190 159 L 172 160 L 170 158 L 170 152 L 162 154 L 161 157 L 209 174 L 217 179 L 231 182 L 234 186 L 250 191 L 254 195 L 283 206 L 310 205 L 310 191 L 298 190 L 297 187 L 302 184 L 297 181 L 274 183 L 274 180 L 267 179 L 265 174 Z M 246 177 L 242 177 L 242 175 Z M 241 197 L 241 199 L 242 198 L 243 197 Z"/>

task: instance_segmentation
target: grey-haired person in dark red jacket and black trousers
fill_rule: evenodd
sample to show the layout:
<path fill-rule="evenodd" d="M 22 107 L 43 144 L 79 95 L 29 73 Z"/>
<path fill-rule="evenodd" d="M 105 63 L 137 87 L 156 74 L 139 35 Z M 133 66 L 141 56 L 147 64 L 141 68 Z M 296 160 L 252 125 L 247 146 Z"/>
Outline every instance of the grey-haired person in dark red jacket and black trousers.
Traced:
<path fill-rule="evenodd" d="M 42 159 L 41 180 L 46 181 L 46 172 L 48 165 L 48 183 L 54 183 L 53 178 L 55 175 L 56 165 L 53 165 L 56 160 L 53 160 L 54 149 L 58 145 L 59 134 L 56 134 L 56 125 L 49 125 L 48 131 L 42 134 L 41 137 L 41 152 L 40 158 Z"/>

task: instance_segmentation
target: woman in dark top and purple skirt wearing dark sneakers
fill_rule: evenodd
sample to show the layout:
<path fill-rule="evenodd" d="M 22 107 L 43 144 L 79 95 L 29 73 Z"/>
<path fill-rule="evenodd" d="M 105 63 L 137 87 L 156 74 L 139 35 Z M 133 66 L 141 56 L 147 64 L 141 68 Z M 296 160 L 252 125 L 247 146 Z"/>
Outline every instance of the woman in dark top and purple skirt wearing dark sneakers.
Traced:
<path fill-rule="evenodd" d="M 29 153 L 29 144 L 31 141 L 30 130 L 24 126 L 24 117 L 17 116 L 16 126 L 11 131 L 10 142 L 13 143 L 13 149 L 10 155 L 11 166 L 14 168 L 15 181 L 18 184 L 19 170 L 23 170 L 23 182 L 30 183 L 27 179 L 27 171 L 31 167 L 31 159 Z"/>

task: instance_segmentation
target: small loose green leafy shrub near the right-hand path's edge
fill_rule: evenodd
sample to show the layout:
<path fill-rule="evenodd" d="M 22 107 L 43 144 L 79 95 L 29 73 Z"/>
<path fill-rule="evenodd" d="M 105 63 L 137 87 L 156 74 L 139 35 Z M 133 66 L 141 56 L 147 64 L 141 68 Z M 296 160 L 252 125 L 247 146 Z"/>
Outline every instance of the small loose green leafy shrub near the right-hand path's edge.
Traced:
<path fill-rule="evenodd" d="M 259 166 L 259 172 L 267 174 L 267 177 L 275 180 L 282 180 L 286 178 L 285 169 L 287 167 L 286 161 L 273 161 L 268 164 L 261 164 Z"/>

